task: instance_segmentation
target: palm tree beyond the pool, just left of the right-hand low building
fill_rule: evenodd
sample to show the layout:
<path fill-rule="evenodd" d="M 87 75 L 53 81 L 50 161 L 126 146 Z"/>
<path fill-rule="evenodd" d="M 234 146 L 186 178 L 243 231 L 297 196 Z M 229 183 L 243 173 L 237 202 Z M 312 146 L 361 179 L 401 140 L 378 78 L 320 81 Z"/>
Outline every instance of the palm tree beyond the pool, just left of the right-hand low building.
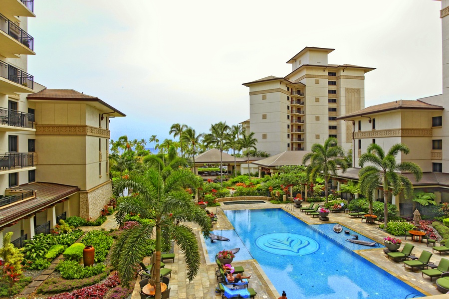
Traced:
<path fill-rule="evenodd" d="M 337 176 L 337 167 L 340 166 L 343 172 L 346 171 L 346 164 L 339 156 L 343 156 L 343 148 L 337 145 L 337 139 L 330 137 L 326 139 L 324 145 L 312 145 L 311 152 L 304 155 L 302 163 L 305 165 L 310 160 L 307 166 L 307 175 L 310 180 L 315 180 L 316 176 L 322 172 L 324 175 L 324 194 L 327 198 L 329 196 L 328 181 L 329 174 Z"/>

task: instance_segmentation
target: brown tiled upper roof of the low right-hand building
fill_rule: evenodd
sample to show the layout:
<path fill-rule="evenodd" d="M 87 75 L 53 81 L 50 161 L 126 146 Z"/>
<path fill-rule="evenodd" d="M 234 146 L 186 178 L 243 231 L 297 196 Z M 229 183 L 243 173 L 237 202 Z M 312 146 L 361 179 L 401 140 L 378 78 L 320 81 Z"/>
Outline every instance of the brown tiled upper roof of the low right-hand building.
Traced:
<path fill-rule="evenodd" d="M 399 100 L 389 103 L 383 103 L 379 105 L 370 106 L 368 108 L 346 114 L 344 116 L 338 117 L 338 120 L 348 119 L 361 115 L 369 115 L 374 113 L 380 113 L 384 111 L 397 110 L 397 109 L 418 109 L 418 110 L 443 110 L 442 106 L 428 104 L 422 101 L 415 100 Z"/>

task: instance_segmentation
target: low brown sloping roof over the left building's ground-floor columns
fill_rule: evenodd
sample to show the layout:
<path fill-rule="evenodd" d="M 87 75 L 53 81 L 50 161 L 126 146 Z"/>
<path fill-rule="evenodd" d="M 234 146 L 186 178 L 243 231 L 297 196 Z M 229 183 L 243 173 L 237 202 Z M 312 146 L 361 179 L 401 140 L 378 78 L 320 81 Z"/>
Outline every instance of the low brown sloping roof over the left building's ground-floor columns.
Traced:
<path fill-rule="evenodd" d="M 9 190 L 36 191 L 36 198 L 18 201 L 0 209 L 0 229 L 8 223 L 23 219 L 29 214 L 35 213 L 78 192 L 79 188 L 61 184 L 36 182 L 20 185 L 16 188 L 9 188 Z"/>

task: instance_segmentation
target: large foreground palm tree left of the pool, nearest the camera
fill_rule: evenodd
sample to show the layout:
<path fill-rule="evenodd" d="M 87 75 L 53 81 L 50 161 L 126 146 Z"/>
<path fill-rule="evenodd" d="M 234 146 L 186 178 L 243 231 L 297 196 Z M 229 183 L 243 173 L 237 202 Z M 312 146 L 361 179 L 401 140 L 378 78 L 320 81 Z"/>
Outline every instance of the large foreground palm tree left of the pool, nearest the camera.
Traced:
<path fill-rule="evenodd" d="M 198 224 L 204 237 L 208 238 L 211 221 L 202 208 L 192 201 L 184 187 L 198 186 L 198 180 L 192 171 L 179 169 L 166 179 L 161 173 L 149 168 L 143 174 L 133 174 L 127 179 L 119 179 L 114 186 L 114 194 L 124 188 L 132 188 L 136 197 L 125 198 L 119 205 L 115 216 L 118 224 L 123 225 L 129 213 L 139 214 L 142 218 L 151 218 L 149 224 L 126 230 L 112 249 L 112 264 L 118 270 L 122 284 L 129 286 L 135 276 L 135 267 L 142 261 L 149 241 L 156 232 L 155 279 L 157 299 L 161 298 L 161 244 L 174 240 L 186 259 L 186 274 L 190 282 L 198 274 L 201 255 L 195 232 L 182 222 Z"/>

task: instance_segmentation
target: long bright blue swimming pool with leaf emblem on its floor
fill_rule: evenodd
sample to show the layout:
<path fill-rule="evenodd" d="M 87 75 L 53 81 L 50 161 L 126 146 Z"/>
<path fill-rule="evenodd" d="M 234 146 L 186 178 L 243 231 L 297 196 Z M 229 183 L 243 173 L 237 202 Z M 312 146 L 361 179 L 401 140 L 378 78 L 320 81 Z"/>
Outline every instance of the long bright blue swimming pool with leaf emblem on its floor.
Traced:
<path fill-rule="evenodd" d="M 257 260 L 276 290 L 279 293 L 287 291 L 289 298 L 402 299 L 425 296 L 332 241 L 314 229 L 316 225 L 309 226 L 282 209 L 226 210 L 225 214 L 234 226 L 241 246 Z M 320 230 L 326 231 L 325 226 Z M 209 255 L 215 256 L 216 243 L 206 243 Z M 221 242 L 219 246 L 226 249 L 240 247 L 237 243 L 228 247 L 226 243 Z M 235 260 L 239 260 L 239 253 Z"/>

